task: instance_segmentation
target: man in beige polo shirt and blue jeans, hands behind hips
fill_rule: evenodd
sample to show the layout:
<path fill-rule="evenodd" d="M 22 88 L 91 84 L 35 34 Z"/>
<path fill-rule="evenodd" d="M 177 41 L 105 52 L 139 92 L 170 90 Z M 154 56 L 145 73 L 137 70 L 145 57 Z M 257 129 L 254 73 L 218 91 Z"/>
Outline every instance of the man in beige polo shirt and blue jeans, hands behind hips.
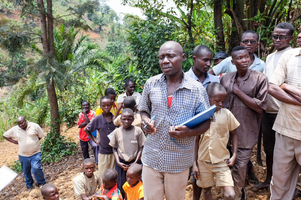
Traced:
<path fill-rule="evenodd" d="M 19 145 L 19 161 L 24 173 L 27 190 L 33 189 L 33 177 L 31 171 L 40 186 L 46 183 L 44 172 L 41 168 L 41 144 L 44 136 L 42 128 L 33 122 L 27 122 L 23 116 L 17 118 L 17 126 L 3 134 L 3 138 Z M 16 140 L 12 139 L 16 138 Z"/>

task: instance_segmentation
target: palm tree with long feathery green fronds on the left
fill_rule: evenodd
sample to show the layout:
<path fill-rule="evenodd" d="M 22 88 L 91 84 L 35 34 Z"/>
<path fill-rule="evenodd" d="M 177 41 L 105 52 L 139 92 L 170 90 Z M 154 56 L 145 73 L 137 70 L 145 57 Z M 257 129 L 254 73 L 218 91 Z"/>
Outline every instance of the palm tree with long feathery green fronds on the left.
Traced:
<path fill-rule="evenodd" d="M 30 77 L 17 89 L 16 99 L 22 105 L 32 92 L 36 91 L 45 81 L 53 78 L 55 87 L 62 90 L 72 80 L 71 74 L 91 68 L 97 71 L 107 71 L 106 65 L 112 63 L 112 58 L 99 50 L 97 44 L 84 43 L 87 35 L 79 35 L 79 30 L 66 28 L 64 25 L 54 28 L 54 59 L 41 59 L 29 70 Z M 43 55 L 42 50 L 32 44 L 32 48 Z"/>

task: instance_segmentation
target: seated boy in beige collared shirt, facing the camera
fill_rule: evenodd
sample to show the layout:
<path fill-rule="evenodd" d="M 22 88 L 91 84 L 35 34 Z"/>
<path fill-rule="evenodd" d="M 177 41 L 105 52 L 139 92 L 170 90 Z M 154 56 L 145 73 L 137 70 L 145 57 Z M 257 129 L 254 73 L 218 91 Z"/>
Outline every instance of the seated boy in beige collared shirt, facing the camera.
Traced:
<path fill-rule="evenodd" d="M 73 189 L 76 200 L 88 200 L 89 196 L 99 194 L 102 180 L 98 173 L 94 172 L 94 161 L 87 158 L 82 163 L 83 173 L 73 178 Z"/>

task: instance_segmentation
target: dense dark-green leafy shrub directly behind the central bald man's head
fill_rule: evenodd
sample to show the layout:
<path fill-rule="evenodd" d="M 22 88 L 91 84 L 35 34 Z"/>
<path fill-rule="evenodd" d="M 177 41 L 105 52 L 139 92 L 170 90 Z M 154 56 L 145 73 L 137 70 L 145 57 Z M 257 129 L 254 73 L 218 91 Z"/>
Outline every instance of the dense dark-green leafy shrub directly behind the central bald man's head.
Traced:
<path fill-rule="evenodd" d="M 166 23 L 154 18 L 154 13 L 147 14 L 147 20 L 133 22 L 133 31 L 128 31 L 127 41 L 136 64 L 137 76 L 142 78 L 160 74 L 158 52 L 160 46 L 169 40 L 176 40 L 174 22 Z"/>

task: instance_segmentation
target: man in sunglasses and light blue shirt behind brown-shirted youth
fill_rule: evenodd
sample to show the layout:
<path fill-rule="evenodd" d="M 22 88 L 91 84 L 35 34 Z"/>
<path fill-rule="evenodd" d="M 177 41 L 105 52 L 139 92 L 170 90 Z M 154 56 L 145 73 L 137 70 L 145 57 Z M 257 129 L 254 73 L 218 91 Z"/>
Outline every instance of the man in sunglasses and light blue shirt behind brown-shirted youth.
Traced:
<path fill-rule="evenodd" d="M 249 68 L 255 71 L 263 72 L 265 62 L 259 59 L 254 53 L 258 48 L 257 33 L 251 30 L 245 31 L 241 36 L 241 42 L 239 43 L 239 45 L 246 47 L 247 51 L 249 52 L 251 59 Z M 236 67 L 235 65 L 232 65 L 231 59 L 231 56 L 224 59 L 218 65 L 215 65 L 212 69 L 210 69 L 208 73 L 213 75 L 219 75 L 222 73 L 236 71 Z"/>

